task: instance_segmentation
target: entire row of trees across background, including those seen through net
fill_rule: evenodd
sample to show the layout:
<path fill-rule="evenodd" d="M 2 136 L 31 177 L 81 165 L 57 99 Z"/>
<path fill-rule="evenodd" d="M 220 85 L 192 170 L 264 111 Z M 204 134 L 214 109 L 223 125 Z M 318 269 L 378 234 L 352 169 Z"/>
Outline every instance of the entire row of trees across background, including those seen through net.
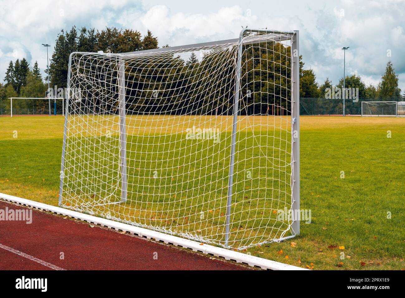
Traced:
<path fill-rule="evenodd" d="M 54 88 L 54 86 L 66 88 L 68 59 L 71 52 L 104 51 L 104 53 L 121 53 L 155 48 L 158 48 L 158 39 L 149 30 L 145 36 L 142 36 L 136 30 L 117 28 L 105 28 L 96 31 L 94 28 L 87 29 L 85 27 L 77 30 L 73 26 L 68 31 L 61 30 L 56 38 L 55 49 L 49 64 L 50 86 L 51 88 Z M 266 100 L 268 101 L 266 97 L 269 94 L 274 94 L 272 113 L 275 113 L 275 106 L 280 107 L 280 109 L 283 107 L 287 113 L 289 103 L 286 99 L 289 99 L 290 90 L 282 86 L 290 84 L 289 72 L 291 66 L 290 61 L 286 59 L 290 48 L 283 47 L 278 43 L 266 43 L 264 47 L 247 45 L 244 47 L 244 51 L 248 53 L 245 57 L 249 56 L 250 58 L 244 57 L 242 63 L 241 82 L 245 82 L 241 84 L 241 96 L 244 98 L 241 103 L 243 113 L 251 114 L 254 112 L 256 114 L 258 109 L 260 109 L 260 114 L 269 113 L 269 111 L 266 111 L 270 109 L 269 105 L 263 104 L 266 103 Z M 232 77 L 231 74 L 234 73 L 235 69 L 233 63 L 221 64 L 222 68 L 218 69 L 215 66 L 218 61 L 223 61 L 223 57 L 203 55 L 203 58 L 198 60 L 195 54 L 192 54 L 188 61 L 184 61 L 179 57 L 172 57 L 164 62 L 150 60 L 145 62 L 144 65 L 127 63 L 126 69 L 129 73 L 126 78 L 127 98 L 130 99 L 127 102 L 128 109 L 151 113 L 153 109 L 162 109 L 166 105 L 166 108 L 170 107 L 171 110 L 180 113 L 188 112 L 188 108 L 190 108 L 191 110 L 194 109 L 196 113 L 228 114 L 232 105 L 231 99 L 234 94 L 232 86 L 234 82 L 228 81 L 227 78 Z M 269 63 L 269 61 L 273 61 L 273 63 Z M 92 64 L 87 65 L 87 74 L 93 72 L 92 75 L 100 75 L 104 71 L 104 77 L 107 76 L 108 74 L 105 73 L 105 69 L 102 69 L 102 65 L 94 68 L 97 63 L 94 60 Z M 318 84 L 314 71 L 305 69 L 304 66 L 305 63 L 302 56 L 300 56 L 300 97 L 317 99 L 316 104 L 322 105 L 325 111 L 326 109 L 336 110 L 341 108 L 340 101 L 324 100 L 326 89 L 333 87 L 332 81 L 327 78 L 323 84 Z M 97 70 L 97 67 L 101 70 Z M 155 69 L 154 74 L 150 76 L 149 73 L 143 72 L 145 69 Z M 164 75 L 162 75 L 162 69 L 166 69 Z M 167 69 L 170 71 L 167 71 Z M 216 77 L 221 71 L 225 79 Z M 45 70 L 45 73 L 48 75 L 47 70 Z M 265 73 L 273 75 L 263 75 Z M 111 69 L 109 75 L 116 77 L 116 70 Z M 187 90 L 185 86 L 177 88 L 178 81 L 190 83 Z M 76 83 L 77 86 L 80 85 L 78 82 Z M 116 83 L 116 81 L 110 81 L 110 84 L 116 85 Z M 154 86 L 154 88 L 151 88 L 151 86 Z M 74 84 L 71 87 L 75 87 Z M 159 87 L 167 90 L 158 94 L 164 99 L 164 103 L 158 105 L 159 108 L 156 108 L 153 107 L 156 99 L 153 98 L 152 92 L 153 89 L 162 89 Z M 334 87 L 343 88 L 343 77 L 339 79 L 339 82 Z M 383 101 L 399 101 L 402 99 L 401 90 L 398 88 L 398 75 L 394 71 L 392 62 L 387 63 L 386 71 L 376 86 L 373 84 L 366 86 L 361 77 L 354 74 L 345 77 L 345 87 L 358 88 L 360 99 Z M 110 88 L 111 92 L 117 92 L 112 85 L 104 86 L 104 88 Z M 139 91 L 142 90 L 141 88 L 144 88 L 142 92 Z M 211 90 L 208 97 L 204 95 L 207 92 L 204 92 L 202 88 Z M 9 97 L 45 97 L 46 90 L 47 76 L 45 78 L 41 77 L 37 62 L 30 68 L 25 58 L 15 62 L 10 61 L 6 69 L 4 84 L 0 84 L 0 113 L 1 109 L 9 108 Z M 253 92 L 252 95 L 249 94 L 249 91 Z M 88 93 L 89 91 L 85 92 Z M 184 94 L 189 97 L 188 101 L 182 101 L 178 98 Z M 102 99 L 100 96 L 102 94 L 98 94 L 96 91 L 93 94 L 85 95 L 87 99 L 100 98 L 99 104 L 101 104 Z M 192 99 L 192 103 L 190 103 L 190 99 Z M 186 102 L 188 103 L 186 104 Z M 92 105 L 94 104 L 92 103 Z M 58 109 L 60 109 L 61 105 L 62 103 L 58 102 Z M 16 102 L 14 107 L 20 109 L 47 109 L 47 101 L 20 101 Z M 349 101 L 347 101 L 347 108 L 351 108 Z M 353 105 L 353 109 L 355 108 L 355 105 Z M 162 112 L 162 110 L 155 110 L 155 112 Z M 279 113 L 283 112 L 279 111 Z"/>

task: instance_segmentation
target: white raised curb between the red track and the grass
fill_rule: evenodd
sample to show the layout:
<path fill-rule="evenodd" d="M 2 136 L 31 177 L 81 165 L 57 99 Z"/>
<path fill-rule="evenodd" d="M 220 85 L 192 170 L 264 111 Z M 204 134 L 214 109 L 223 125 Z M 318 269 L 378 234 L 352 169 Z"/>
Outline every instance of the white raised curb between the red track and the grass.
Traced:
<path fill-rule="evenodd" d="M 237 251 L 232 251 L 224 249 L 221 247 L 215 247 L 209 244 L 200 244 L 193 240 L 188 240 L 184 238 L 179 238 L 176 236 L 152 231 L 149 229 L 144 229 L 141 227 L 135 227 L 133 225 L 128 225 L 125 223 L 119 223 L 117 221 L 111 221 L 109 219 L 104 219 L 101 217 L 95 217 L 89 214 L 84 214 L 56 206 L 51 206 L 43 203 L 34 202 L 28 199 L 23 199 L 20 197 L 15 197 L 13 195 L 6 195 L 0 193 L 0 198 L 9 202 L 17 203 L 23 206 L 28 206 L 36 208 L 39 210 L 45 210 L 54 212 L 56 214 L 62 214 L 75 219 L 80 219 L 82 221 L 87 221 L 89 223 L 94 223 L 95 225 L 101 225 L 103 227 L 109 227 L 110 229 L 115 229 L 123 232 L 129 232 L 136 236 L 140 236 L 147 239 L 153 239 L 156 241 L 164 242 L 167 244 L 172 244 L 175 246 L 180 246 L 187 249 L 192 249 L 193 251 L 198 251 L 200 253 L 205 253 L 208 255 L 213 255 L 217 257 L 222 257 L 227 260 L 233 260 L 237 263 L 247 264 L 252 267 L 259 267 L 267 270 L 307 270 L 305 268 L 300 268 L 297 266 L 287 265 L 269 259 L 264 259 L 260 257 L 255 257 L 252 255 L 247 255 L 245 253 L 240 253 Z"/>

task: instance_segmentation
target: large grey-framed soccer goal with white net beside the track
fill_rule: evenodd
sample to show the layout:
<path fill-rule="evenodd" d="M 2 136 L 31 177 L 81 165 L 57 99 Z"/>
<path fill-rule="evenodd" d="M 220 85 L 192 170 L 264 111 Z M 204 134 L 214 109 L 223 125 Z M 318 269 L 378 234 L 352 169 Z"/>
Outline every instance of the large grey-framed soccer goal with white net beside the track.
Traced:
<path fill-rule="evenodd" d="M 299 233 L 298 31 L 74 52 L 59 204 L 222 247 Z"/>

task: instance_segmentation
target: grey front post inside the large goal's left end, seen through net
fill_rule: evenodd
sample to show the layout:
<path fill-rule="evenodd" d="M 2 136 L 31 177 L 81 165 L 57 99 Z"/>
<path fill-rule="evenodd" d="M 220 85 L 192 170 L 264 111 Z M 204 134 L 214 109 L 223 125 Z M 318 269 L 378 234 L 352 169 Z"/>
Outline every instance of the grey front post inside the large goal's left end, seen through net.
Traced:
<path fill-rule="evenodd" d="M 125 61 L 119 59 L 118 63 L 118 90 L 119 90 L 119 157 L 121 172 L 121 202 L 127 200 L 127 165 L 126 165 L 126 101 L 125 101 Z"/>

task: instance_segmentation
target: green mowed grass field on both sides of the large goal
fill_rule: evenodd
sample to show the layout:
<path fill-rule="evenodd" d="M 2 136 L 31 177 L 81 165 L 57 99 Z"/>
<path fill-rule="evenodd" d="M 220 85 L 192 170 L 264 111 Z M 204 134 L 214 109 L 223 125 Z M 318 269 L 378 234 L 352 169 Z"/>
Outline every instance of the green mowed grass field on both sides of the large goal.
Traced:
<path fill-rule="evenodd" d="M 57 206 L 63 123 L 0 117 L 0 192 Z M 404 169 L 405 118 L 301 117 L 311 223 L 301 222 L 296 245 L 244 252 L 313 269 L 405 268 Z"/>

